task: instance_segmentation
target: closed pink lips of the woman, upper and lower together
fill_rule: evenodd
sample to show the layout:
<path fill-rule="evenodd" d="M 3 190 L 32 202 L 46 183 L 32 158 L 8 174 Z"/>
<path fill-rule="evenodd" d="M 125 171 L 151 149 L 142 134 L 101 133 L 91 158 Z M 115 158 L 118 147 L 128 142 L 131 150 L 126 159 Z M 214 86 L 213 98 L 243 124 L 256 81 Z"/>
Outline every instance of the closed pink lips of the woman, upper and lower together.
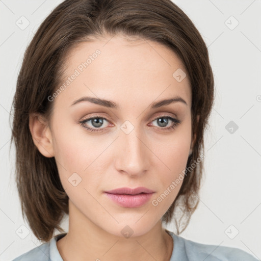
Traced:
<path fill-rule="evenodd" d="M 108 198 L 123 207 L 140 207 L 151 198 L 154 191 L 139 187 L 136 189 L 119 188 L 111 191 L 105 191 Z"/>

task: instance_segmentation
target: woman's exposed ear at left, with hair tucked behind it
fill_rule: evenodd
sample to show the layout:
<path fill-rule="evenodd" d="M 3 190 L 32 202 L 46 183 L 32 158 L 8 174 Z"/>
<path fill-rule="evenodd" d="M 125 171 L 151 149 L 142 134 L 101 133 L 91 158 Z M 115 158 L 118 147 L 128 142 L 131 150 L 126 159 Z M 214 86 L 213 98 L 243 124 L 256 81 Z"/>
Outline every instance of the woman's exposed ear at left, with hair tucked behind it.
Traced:
<path fill-rule="evenodd" d="M 38 150 L 46 156 L 51 158 L 54 156 L 53 139 L 50 128 L 42 115 L 34 113 L 29 116 L 29 128 Z"/>

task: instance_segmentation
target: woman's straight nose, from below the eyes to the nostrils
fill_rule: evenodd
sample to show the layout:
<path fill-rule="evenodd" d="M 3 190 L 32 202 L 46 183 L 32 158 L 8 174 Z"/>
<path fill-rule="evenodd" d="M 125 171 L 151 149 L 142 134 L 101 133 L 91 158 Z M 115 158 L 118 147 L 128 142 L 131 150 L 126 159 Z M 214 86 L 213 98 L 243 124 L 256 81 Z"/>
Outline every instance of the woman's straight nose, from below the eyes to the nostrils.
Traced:
<path fill-rule="evenodd" d="M 118 152 L 115 160 L 115 168 L 130 176 L 140 176 L 149 169 L 150 151 L 145 135 L 141 135 L 136 128 L 129 134 L 120 133 L 117 139 Z"/>

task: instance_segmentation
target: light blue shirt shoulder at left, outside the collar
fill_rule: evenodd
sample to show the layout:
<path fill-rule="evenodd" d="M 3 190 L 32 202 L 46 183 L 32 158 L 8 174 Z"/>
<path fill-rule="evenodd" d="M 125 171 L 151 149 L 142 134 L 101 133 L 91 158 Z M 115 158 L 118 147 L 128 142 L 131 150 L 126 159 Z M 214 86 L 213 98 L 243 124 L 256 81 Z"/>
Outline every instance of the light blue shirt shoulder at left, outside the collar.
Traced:
<path fill-rule="evenodd" d="M 42 245 L 31 249 L 30 251 L 16 257 L 13 261 L 49 261 L 50 243 L 43 243 Z"/>

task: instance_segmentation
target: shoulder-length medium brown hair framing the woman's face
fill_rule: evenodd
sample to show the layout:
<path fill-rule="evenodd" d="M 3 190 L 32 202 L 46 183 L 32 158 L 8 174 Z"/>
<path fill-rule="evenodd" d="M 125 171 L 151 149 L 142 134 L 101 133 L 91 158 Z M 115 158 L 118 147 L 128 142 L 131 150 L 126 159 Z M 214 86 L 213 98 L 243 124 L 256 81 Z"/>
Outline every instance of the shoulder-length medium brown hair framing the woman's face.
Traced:
<path fill-rule="evenodd" d="M 207 47 L 189 17 L 170 0 L 66 0 L 41 23 L 25 51 L 12 109 L 11 142 L 16 147 L 16 185 L 22 216 L 40 241 L 48 242 L 68 214 L 68 196 L 58 174 L 55 158 L 46 158 L 35 146 L 29 115 L 49 119 L 48 100 L 59 87 L 63 65 L 70 50 L 91 36 L 137 36 L 171 48 L 186 68 L 192 91 L 193 152 L 187 168 L 204 149 L 203 134 L 214 99 L 214 77 Z M 197 122 L 197 115 L 200 115 Z M 173 217 L 177 234 L 187 227 L 199 202 L 203 161 L 185 176 L 177 197 L 162 217 Z"/>

